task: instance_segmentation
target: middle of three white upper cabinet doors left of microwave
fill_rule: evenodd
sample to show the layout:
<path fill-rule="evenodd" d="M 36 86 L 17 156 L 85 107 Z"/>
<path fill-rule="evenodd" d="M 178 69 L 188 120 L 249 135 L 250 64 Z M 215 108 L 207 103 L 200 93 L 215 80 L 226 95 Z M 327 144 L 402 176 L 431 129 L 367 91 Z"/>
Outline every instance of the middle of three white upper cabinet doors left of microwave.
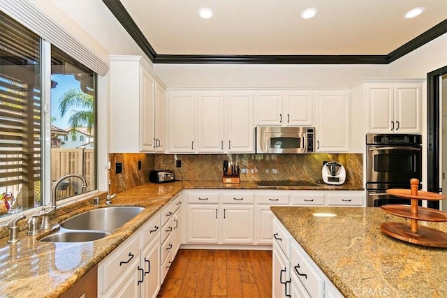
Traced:
<path fill-rule="evenodd" d="M 198 153 L 223 152 L 223 95 L 198 94 Z"/>

